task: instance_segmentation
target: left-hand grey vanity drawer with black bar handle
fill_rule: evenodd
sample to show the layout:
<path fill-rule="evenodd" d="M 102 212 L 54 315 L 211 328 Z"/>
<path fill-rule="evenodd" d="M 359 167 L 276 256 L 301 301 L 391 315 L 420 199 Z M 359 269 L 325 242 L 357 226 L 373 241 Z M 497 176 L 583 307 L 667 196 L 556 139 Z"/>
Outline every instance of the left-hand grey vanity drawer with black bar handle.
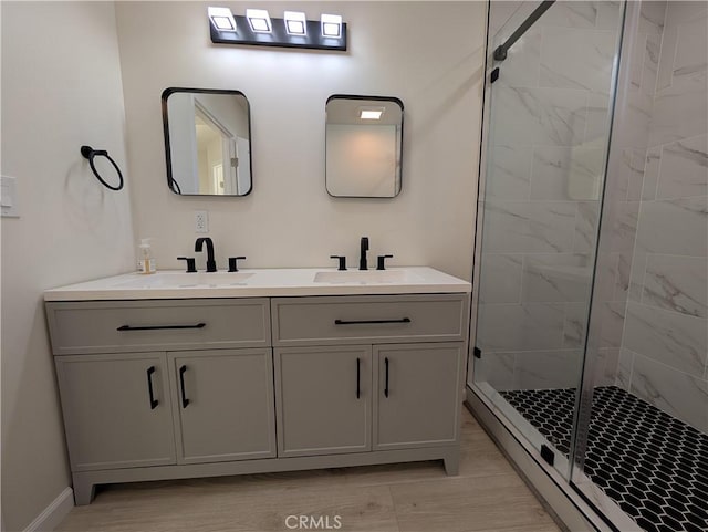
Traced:
<path fill-rule="evenodd" d="M 270 345 L 268 299 L 50 302 L 54 355 Z"/>

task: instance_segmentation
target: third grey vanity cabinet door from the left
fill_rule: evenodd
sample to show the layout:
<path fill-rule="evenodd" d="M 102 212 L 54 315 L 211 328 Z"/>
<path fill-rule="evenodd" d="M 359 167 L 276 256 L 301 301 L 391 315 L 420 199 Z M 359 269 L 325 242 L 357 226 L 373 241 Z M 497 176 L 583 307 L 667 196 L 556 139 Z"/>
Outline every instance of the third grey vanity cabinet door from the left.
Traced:
<path fill-rule="evenodd" d="M 371 450 L 371 346 L 274 354 L 278 456 Z"/>

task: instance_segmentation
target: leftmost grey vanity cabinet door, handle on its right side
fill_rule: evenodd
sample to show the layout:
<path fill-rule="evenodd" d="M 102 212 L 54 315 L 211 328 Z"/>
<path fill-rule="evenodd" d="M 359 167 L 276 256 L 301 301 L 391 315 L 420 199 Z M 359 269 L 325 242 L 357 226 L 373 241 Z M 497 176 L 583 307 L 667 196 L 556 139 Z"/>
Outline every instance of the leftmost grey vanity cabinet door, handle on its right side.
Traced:
<path fill-rule="evenodd" d="M 72 471 L 175 463 L 165 353 L 54 361 Z"/>

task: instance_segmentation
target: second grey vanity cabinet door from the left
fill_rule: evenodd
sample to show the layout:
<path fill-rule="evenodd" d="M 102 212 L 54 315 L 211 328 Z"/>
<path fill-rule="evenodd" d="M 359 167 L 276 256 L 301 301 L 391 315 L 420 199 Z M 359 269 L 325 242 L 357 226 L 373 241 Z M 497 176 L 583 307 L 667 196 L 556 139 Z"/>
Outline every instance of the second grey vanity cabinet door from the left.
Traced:
<path fill-rule="evenodd" d="M 275 456 L 271 350 L 169 353 L 179 463 Z"/>

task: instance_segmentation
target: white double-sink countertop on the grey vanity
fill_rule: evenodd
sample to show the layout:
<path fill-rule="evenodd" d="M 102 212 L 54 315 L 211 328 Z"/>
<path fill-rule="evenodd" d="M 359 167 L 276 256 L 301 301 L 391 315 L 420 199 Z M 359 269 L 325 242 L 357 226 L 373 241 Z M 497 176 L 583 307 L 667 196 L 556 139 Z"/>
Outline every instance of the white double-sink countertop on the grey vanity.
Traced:
<path fill-rule="evenodd" d="M 166 270 L 147 275 L 126 273 L 46 290 L 44 301 L 469 292 L 469 282 L 427 267 L 342 272 L 327 268 L 249 269 L 237 273 Z"/>

